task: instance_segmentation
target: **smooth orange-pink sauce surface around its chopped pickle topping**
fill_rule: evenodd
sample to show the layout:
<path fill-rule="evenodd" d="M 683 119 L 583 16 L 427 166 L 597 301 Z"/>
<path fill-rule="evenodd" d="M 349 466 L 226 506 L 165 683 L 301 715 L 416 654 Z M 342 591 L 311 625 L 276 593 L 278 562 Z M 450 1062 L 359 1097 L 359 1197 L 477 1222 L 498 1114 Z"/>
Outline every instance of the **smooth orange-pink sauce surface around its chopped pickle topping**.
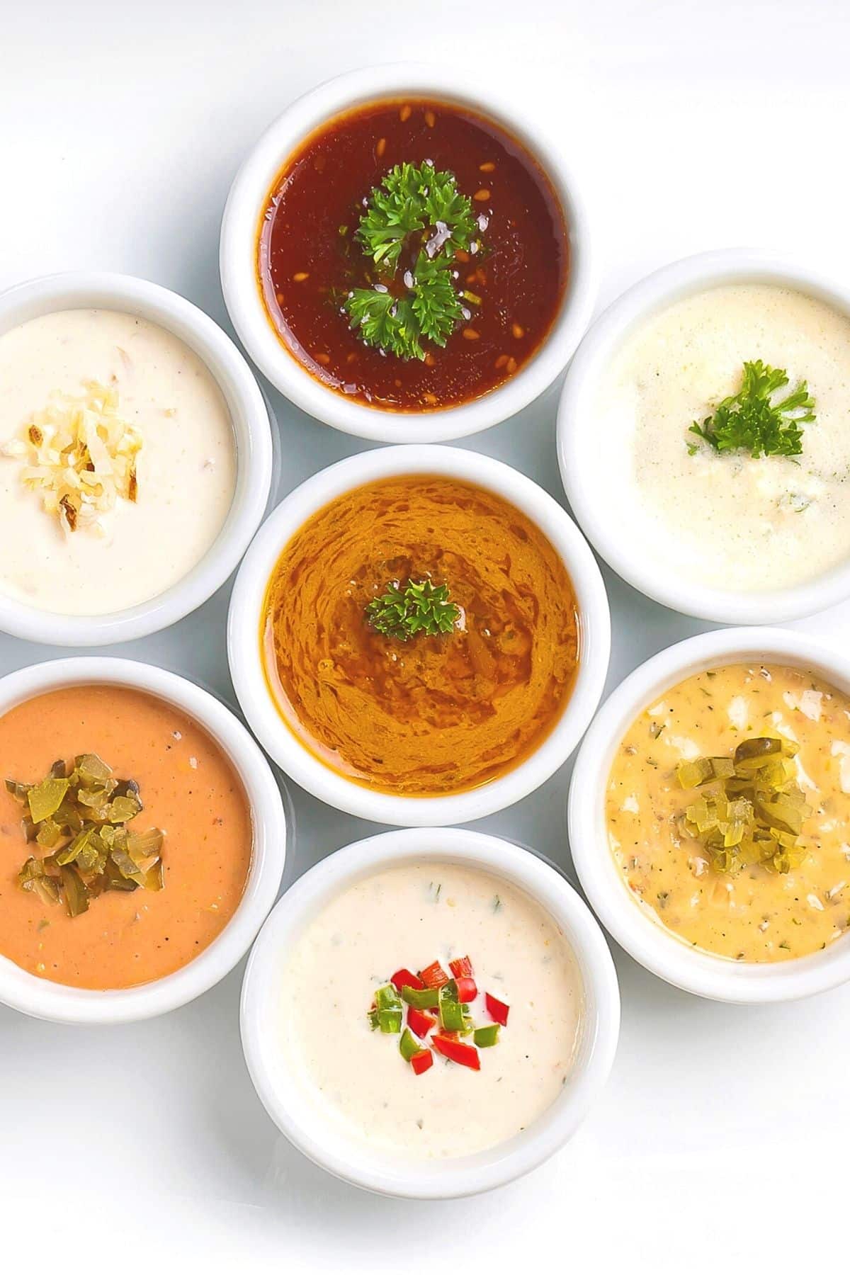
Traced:
<path fill-rule="evenodd" d="M 0 776 L 32 783 L 57 757 L 97 752 L 135 779 L 139 829 L 166 833 L 161 891 L 107 891 L 69 917 L 22 890 L 32 848 L 22 807 L 0 789 L 0 955 L 31 974 L 93 989 L 134 987 L 186 965 L 242 898 L 252 827 L 245 789 L 218 745 L 164 700 L 117 686 L 40 695 L 0 718 Z M 131 825 L 133 826 L 133 825 Z"/>

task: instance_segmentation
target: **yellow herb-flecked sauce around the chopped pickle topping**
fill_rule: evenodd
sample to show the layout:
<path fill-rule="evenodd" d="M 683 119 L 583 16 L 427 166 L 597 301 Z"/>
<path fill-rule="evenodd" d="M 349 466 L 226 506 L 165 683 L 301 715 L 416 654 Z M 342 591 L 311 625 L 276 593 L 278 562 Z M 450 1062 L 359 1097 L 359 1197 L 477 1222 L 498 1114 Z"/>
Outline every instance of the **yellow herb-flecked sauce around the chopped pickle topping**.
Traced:
<path fill-rule="evenodd" d="M 697 793 L 682 788 L 677 766 L 731 756 L 742 740 L 763 734 L 799 743 L 798 782 L 813 810 L 807 854 L 788 873 L 762 864 L 717 872 L 682 827 Z M 774 664 L 698 673 L 664 691 L 624 736 L 607 817 L 626 885 L 686 942 L 746 961 L 819 951 L 850 927 L 850 699 Z"/>

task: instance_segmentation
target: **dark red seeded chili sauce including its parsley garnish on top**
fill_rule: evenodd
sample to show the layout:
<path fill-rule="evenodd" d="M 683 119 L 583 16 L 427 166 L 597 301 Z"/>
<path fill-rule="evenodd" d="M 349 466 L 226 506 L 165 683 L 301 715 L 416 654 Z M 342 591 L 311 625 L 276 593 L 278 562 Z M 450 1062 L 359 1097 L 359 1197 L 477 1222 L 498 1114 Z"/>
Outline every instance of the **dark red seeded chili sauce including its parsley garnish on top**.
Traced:
<path fill-rule="evenodd" d="M 259 227 L 257 282 L 280 340 L 322 384 L 428 412 L 534 357 L 568 254 L 557 195 L 519 142 L 451 103 L 382 101 L 330 120 L 287 161 Z"/>

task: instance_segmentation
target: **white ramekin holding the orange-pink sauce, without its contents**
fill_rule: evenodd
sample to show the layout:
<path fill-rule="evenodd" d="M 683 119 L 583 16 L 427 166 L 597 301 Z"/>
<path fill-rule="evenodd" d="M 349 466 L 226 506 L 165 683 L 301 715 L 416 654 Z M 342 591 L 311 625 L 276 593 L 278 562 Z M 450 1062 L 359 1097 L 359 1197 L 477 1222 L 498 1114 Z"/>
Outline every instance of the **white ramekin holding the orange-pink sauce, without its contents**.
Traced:
<path fill-rule="evenodd" d="M 218 938 L 176 973 L 140 987 L 96 992 L 36 978 L 0 956 L 0 1003 L 13 1010 L 54 1023 L 134 1023 L 194 1001 L 245 956 L 278 894 L 287 822 L 275 778 L 242 723 L 209 691 L 153 664 L 99 657 L 31 664 L 0 678 L 0 715 L 46 691 L 87 683 L 127 686 L 176 705 L 229 757 L 251 806 L 254 853 L 242 901 Z"/>

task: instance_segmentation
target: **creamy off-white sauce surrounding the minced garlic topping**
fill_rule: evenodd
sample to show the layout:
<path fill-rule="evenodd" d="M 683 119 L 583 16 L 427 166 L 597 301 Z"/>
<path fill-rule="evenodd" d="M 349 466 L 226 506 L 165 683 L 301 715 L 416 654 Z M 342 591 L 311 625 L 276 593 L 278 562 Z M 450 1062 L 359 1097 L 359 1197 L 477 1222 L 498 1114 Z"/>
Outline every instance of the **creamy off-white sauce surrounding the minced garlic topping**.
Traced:
<path fill-rule="evenodd" d="M 113 310 L 61 310 L 0 335 L 0 445 L 51 394 L 85 381 L 119 393 L 143 436 L 138 500 L 120 499 L 103 533 L 66 533 L 0 458 L 0 589 L 61 615 L 104 615 L 163 593 L 206 553 L 236 486 L 236 440 L 215 379 L 173 333 Z"/>

